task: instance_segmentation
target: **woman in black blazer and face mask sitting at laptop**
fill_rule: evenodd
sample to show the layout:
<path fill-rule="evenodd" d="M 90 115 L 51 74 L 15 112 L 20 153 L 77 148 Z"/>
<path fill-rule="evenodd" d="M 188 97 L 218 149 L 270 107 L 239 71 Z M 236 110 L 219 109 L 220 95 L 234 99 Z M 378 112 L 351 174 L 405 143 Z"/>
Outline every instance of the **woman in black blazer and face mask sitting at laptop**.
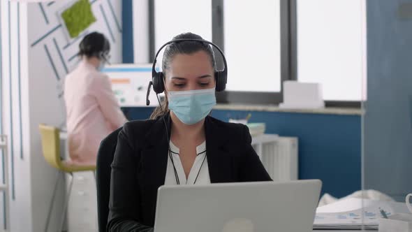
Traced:
<path fill-rule="evenodd" d="M 191 33 L 173 39 L 188 38 L 202 39 Z M 216 104 L 210 45 L 170 43 L 162 70 L 164 104 L 154 110 L 152 119 L 128 122 L 119 133 L 108 231 L 152 231 L 157 189 L 163 184 L 270 180 L 251 147 L 247 126 L 208 116 Z"/>

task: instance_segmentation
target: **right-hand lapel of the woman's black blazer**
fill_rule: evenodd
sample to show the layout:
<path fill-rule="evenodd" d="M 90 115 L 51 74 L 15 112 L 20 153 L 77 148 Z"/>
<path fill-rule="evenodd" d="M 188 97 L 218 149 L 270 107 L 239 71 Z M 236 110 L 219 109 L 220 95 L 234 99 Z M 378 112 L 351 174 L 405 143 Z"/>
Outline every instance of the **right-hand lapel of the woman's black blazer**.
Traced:
<path fill-rule="evenodd" d="M 212 119 L 205 119 L 206 154 L 209 166 L 210 182 L 233 182 L 233 159 L 225 145 L 228 138 L 219 130 Z"/>

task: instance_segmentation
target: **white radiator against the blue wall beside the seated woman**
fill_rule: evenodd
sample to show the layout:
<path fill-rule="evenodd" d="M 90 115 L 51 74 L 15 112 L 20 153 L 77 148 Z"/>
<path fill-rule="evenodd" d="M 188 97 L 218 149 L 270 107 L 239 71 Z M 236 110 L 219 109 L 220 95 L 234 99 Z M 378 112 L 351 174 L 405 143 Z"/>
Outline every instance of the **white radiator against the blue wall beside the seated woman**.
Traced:
<path fill-rule="evenodd" d="M 252 146 L 274 181 L 297 180 L 297 138 L 262 134 Z"/>

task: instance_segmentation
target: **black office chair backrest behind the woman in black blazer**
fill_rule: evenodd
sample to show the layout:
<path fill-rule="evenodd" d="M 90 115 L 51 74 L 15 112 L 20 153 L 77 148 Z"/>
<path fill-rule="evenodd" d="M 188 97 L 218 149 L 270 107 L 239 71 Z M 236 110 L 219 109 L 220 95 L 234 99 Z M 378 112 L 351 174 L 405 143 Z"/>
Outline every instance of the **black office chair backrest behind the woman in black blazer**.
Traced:
<path fill-rule="evenodd" d="M 120 127 L 101 141 L 97 152 L 96 183 L 97 183 L 97 217 L 98 231 L 105 232 L 108 224 L 109 198 L 110 198 L 110 173 L 113 157 L 117 145 L 117 135 L 122 130 Z"/>

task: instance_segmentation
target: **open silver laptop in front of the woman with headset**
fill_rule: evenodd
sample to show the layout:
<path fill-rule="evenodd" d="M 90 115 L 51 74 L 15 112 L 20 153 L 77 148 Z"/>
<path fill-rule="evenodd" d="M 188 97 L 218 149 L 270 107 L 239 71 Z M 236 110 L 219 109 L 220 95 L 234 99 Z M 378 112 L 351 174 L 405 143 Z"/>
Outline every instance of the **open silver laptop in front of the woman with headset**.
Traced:
<path fill-rule="evenodd" d="M 159 188 L 154 232 L 311 231 L 321 180 Z"/>

